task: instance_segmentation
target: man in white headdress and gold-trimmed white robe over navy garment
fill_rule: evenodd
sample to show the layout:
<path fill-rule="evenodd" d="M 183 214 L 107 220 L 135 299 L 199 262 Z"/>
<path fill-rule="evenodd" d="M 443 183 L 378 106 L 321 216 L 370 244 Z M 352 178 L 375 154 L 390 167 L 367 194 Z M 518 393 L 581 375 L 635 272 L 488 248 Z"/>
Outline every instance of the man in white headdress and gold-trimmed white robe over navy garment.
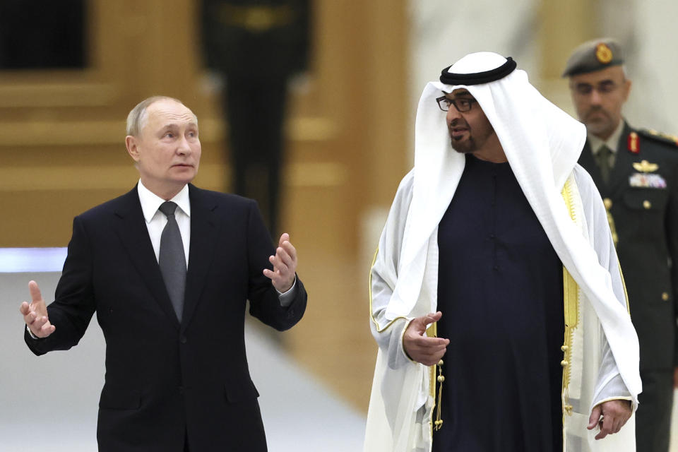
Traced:
<path fill-rule="evenodd" d="M 415 134 L 371 268 L 364 450 L 635 451 L 638 338 L 584 126 L 481 52 L 424 88 Z"/>

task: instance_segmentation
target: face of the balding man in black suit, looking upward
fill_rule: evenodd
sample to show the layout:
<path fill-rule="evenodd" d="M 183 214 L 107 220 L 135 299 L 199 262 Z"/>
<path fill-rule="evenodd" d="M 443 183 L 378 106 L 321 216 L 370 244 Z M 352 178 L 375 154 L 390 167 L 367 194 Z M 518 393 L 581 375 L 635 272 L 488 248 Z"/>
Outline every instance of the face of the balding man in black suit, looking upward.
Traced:
<path fill-rule="evenodd" d="M 127 150 L 144 186 L 158 196 L 174 196 L 198 172 L 198 124 L 193 112 L 174 100 L 154 102 L 146 114 L 139 136 L 127 137 Z"/>

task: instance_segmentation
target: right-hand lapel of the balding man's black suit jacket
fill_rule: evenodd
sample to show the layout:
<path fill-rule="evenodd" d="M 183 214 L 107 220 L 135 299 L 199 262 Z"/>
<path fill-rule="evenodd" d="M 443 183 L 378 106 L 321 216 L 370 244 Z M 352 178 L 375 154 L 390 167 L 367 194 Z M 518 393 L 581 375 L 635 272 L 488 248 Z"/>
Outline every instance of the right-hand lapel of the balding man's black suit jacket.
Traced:
<path fill-rule="evenodd" d="M 198 306 L 208 270 L 212 265 L 218 234 L 218 222 L 214 216 L 216 204 L 210 203 L 208 196 L 191 184 L 189 184 L 189 196 L 191 198 L 191 246 L 189 268 L 186 273 L 182 331 L 191 322 Z"/>

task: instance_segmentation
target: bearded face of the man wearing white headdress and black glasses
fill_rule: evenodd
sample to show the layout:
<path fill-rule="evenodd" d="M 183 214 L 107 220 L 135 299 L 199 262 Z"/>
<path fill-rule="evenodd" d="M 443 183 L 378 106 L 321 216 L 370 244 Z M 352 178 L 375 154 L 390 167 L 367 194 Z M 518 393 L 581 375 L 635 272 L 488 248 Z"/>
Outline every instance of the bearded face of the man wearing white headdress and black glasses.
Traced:
<path fill-rule="evenodd" d="M 465 89 L 446 93 L 445 97 L 462 102 L 471 101 L 471 108 L 468 112 L 460 113 L 454 105 L 450 105 L 447 111 L 447 130 L 452 148 L 458 153 L 475 153 L 484 148 L 488 139 L 495 133 L 478 102 Z"/>

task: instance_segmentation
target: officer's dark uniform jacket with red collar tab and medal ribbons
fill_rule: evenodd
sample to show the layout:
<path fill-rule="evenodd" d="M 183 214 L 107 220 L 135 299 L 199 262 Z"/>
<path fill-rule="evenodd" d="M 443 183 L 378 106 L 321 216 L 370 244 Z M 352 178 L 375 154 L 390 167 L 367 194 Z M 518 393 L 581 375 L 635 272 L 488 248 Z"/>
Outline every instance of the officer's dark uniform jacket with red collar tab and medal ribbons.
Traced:
<path fill-rule="evenodd" d="M 607 204 L 612 203 L 609 212 L 619 237 L 617 254 L 641 346 L 641 370 L 672 369 L 678 363 L 678 265 L 670 266 L 670 261 L 678 264 L 678 146 L 626 123 L 619 140 L 609 184 L 602 182 L 588 141 L 579 163 Z M 638 171 L 633 164 L 643 160 L 658 168 Z M 633 174 L 650 175 L 652 183 L 642 186 L 638 177 L 632 183 Z M 658 184 L 661 180 L 665 187 Z"/>

